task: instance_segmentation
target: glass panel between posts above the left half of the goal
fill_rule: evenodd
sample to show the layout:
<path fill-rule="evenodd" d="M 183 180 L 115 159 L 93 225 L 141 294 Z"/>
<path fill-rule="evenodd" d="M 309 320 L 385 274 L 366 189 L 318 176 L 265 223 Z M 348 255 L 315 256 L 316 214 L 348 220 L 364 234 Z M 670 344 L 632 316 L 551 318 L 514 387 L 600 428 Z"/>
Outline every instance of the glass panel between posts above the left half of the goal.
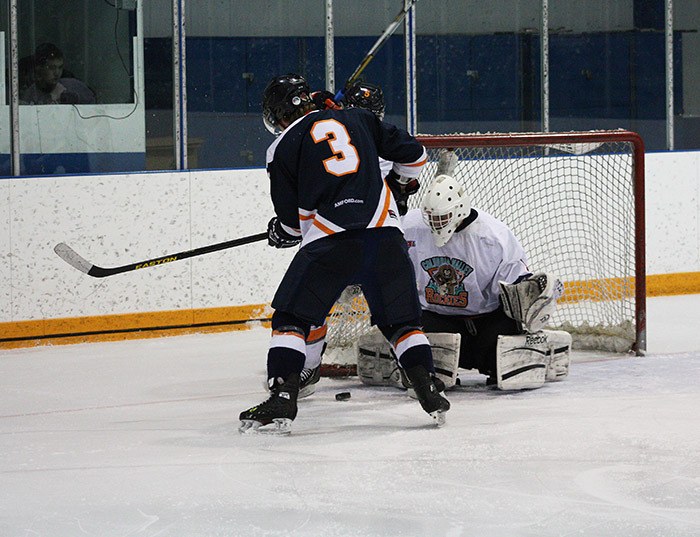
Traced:
<path fill-rule="evenodd" d="M 540 8 L 539 0 L 416 4 L 419 133 L 541 130 Z"/>

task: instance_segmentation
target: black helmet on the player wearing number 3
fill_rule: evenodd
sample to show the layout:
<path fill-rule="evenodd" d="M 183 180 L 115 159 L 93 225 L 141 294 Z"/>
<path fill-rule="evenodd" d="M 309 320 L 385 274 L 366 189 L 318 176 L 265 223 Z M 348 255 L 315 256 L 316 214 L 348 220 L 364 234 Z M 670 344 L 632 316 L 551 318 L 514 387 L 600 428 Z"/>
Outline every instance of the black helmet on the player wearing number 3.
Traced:
<path fill-rule="evenodd" d="M 263 122 L 272 134 L 284 130 L 280 121 L 290 123 L 305 103 L 311 102 L 311 90 L 303 76 L 294 73 L 276 76 L 263 92 Z M 285 125 L 286 127 L 286 125 Z"/>

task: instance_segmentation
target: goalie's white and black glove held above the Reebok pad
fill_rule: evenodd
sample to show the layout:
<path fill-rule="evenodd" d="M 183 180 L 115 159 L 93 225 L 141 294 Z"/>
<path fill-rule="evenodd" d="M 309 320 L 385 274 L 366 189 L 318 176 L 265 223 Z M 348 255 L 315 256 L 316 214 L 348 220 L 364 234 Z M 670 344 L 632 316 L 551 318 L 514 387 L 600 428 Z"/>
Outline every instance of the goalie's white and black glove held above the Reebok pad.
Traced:
<path fill-rule="evenodd" d="M 522 323 L 528 332 L 542 330 L 557 307 L 564 286 L 561 281 L 539 272 L 516 284 L 499 282 L 501 302 L 506 315 Z"/>

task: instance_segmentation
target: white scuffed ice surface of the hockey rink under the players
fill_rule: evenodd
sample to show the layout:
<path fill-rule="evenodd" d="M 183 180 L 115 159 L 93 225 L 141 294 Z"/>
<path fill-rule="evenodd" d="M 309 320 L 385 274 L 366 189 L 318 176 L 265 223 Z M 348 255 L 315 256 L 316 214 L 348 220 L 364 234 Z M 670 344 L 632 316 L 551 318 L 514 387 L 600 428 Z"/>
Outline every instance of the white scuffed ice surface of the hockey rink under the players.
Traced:
<path fill-rule="evenodd" d="M 0 351 L 0 536 L 700 535 L 700 295 L 648 306 L 647 356 L 451 392 L 441 429 L 322 378 L 290 436 L 240 435 L 263 328 Z"/>

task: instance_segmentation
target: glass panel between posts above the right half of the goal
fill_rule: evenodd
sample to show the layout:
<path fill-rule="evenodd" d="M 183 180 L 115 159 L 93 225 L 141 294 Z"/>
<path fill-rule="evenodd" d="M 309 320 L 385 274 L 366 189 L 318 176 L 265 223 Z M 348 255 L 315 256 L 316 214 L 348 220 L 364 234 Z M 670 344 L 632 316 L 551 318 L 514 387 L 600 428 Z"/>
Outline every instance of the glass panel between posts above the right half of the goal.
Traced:
<path fill-rule="evenodd" d="M 663 2 L 549 5 L 550 130 L 625 128 L 663 149 Z"/>

